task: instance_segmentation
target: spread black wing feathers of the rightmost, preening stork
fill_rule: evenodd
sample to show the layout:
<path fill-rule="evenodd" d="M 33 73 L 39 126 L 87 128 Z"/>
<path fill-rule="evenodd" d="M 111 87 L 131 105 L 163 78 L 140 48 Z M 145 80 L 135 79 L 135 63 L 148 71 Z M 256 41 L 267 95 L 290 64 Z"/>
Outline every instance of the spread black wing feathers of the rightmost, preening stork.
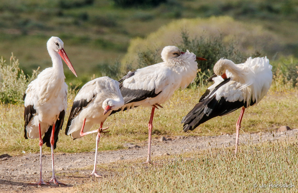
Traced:
<path fill-rule="evenodd" d="M 193 109 L 182 119 L 181 123 L 184 123 L 184 132 L 187 132 L 188 130 L 194 130 L 200 124 L 214 117 L 224 116 L 241 108 L 242 106 L 247 107 L 255 104 L 255 101 L 251 101 L 249 105 L 247 105 L 247 102 L 243 101 L 229 102 L 226 101 L 226 98 L 224 97 L 221 97 L 220 100 L 216 100 L 216 95 L 213 95 L 211 98 L 209 98 L 209 96 L 216 92 L 219 87 L 228 83 L 229 81 L 230 78 L 224 80 L 221 82 L 221 84 L 215 87 L 211 93 L 210 90 L 206 91 L 208 94 L 205 93 L 205 97 L 203 99 L 201 97 L 200 102 L 196 104 Z"/>

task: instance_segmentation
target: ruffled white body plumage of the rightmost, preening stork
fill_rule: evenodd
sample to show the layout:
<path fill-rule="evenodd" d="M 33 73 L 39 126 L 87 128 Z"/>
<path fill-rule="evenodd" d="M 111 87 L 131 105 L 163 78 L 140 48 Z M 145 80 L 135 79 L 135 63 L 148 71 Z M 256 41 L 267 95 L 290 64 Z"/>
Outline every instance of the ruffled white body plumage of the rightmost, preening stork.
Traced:
<path fill-rule="evenodd" d="M 226 70 L 226 75 L 228 78 L 231 77 L 231 80 L 214 93 L 217 100 L 225 97 L 229 102 L 243 101 L 244 103 L 247 101 L 247 104 L 250 104 L 251 101 L 256 101 L 257 104 L 267 94 L 272 83 L 272 66 L 266 56 L 253 59 L 250 57 L 243 64 L 235 65 L 227 59 L 221 59 L 218 63 L 224 63 L 229 69 Z M 229 68 L 230 65 L 234 65 L 236 68 Z M 221 76 L 212 80 L 215 83 L 208 88 L 210 92 L 224 81 Z"/>

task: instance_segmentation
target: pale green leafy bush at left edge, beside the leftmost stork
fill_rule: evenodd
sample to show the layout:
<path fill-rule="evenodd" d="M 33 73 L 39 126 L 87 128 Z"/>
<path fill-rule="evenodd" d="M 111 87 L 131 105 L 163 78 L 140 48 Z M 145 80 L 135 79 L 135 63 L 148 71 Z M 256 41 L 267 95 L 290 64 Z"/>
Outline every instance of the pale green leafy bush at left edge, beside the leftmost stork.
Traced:
<path fill-rule="evenodd" d="M 38 75 L 38 69 L 33 70 L 31 77 L 26 77 L 23 70 L 19 68 L 19 62 L 15 56 L 10 57 L 10 65 L 5 63 L 1 57 L 0 60 L 0 101 L 2 103 L 16 103 L 21 100 L 27 85 Z"/>

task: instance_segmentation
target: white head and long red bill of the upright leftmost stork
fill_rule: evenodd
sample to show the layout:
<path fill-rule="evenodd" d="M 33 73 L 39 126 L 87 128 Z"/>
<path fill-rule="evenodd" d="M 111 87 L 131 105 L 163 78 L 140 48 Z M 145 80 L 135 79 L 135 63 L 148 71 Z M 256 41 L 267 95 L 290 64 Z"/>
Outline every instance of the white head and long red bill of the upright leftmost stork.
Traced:
<path fill-rule="evenodd" d="M 48 40 L 48 42 L 46 43 L 46 47 L 47 47 L 49 53 L 51 53 L 52 50 L 57 52 L 61 56 L 61 58 L 65 61 L 65 63 L 69 67 L 69 69 L 75 74 L 75 76 L 77 76 L 77 73 L 75 72 L 75 69 L 72 66 L 72 63 L 70 62 L 66 52 L 64 51 L 64 44 L 63 44 L 63 41 L 60 38 L 51 37 Z M 52 57 L 51 54 L 50 54 L 50 56 Z"/>

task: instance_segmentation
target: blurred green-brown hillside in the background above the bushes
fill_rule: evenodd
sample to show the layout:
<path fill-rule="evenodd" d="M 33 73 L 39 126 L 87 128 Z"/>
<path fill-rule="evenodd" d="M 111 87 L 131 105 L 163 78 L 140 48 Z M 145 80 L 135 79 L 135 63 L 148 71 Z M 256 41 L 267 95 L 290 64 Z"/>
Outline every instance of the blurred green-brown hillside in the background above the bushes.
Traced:
<path fill-rule="evenodd" d="M 243 26 L 261 26 L 274 34 L 278 49 L 265 53 L 298 56 L 298 2 L 276 0 L 167 0 L 161 4 L 121 6 L 113 0 L 2 0 L 0 55 L 11 52 L 25 73 L 50 67 L 46 41 L 60 37 L 80 78 L 121 61 L 132 38 L 145 38 L 181 18 L 230 16 Z M 270 40 L 270 41 L 271 41 Z M 273 45 L 273 44 L 269 44 Z M 269 57 L 270 59 L 270 57 Z M 67 67 L 66 67 L 67 69 Z M 67 70 L 66 77 L 74 78 Z M 86 80 L 82 80 L 87 81 Z"/>

